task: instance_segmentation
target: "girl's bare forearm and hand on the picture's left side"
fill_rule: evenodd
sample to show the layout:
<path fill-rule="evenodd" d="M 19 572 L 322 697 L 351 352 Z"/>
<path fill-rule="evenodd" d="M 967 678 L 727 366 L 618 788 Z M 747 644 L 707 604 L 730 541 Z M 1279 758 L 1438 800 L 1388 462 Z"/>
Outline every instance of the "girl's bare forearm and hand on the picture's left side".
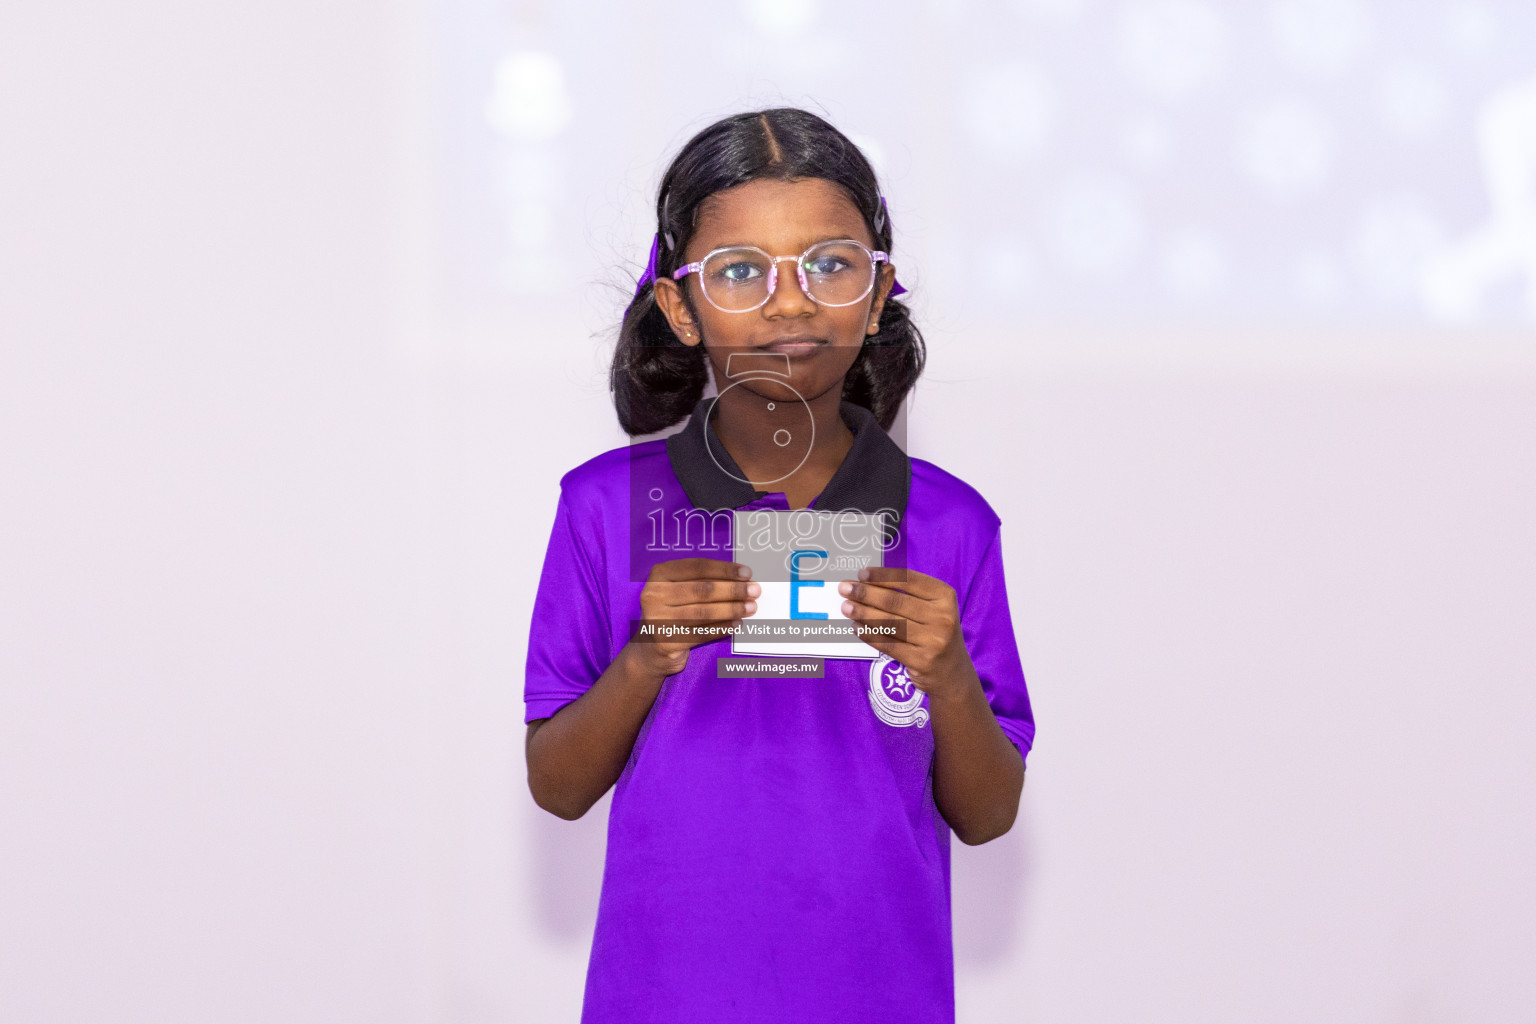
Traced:
<path fill-rule="evenodd" d="M 693 636 L 668 642 L 630 640 L 581 697 L 550 718 L 528 723 L 528 789 L 541 808 L 574 821 L 619 780 L 645 715 L 668 676 L 688 652 L 725 636 L 757 611 L 762 593 L 745 565 L 719 559 L 659 562 L 641 591 L 647 622 L 687 622 Z"/>

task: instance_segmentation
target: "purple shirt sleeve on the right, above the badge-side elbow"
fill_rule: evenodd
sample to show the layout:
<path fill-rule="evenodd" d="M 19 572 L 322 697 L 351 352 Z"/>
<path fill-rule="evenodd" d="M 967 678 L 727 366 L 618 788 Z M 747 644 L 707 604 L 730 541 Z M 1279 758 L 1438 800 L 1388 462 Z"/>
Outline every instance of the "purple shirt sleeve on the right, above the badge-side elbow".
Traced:
<path fill-rule="evenodd" d="M 1018 642 L 1014 639 L 1014 620 L 1008 609 L 1001 531 L 992 534 L 971 579 L 965 608 L 960 609 L 960 633 L 997 723 L 1028 761 L 1029 748 L 1035 742 L 1035 715 L 1029 706 L 1025 668 L 1018 660 Z"/>

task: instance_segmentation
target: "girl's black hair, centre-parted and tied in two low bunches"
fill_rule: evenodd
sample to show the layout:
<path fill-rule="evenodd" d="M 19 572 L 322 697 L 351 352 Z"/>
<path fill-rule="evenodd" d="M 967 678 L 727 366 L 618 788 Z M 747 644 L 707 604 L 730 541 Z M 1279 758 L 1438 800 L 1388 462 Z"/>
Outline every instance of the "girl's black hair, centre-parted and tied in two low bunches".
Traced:
<path fill-rule="evenodd" d="M 682 147 L 656 192 L 656 276 L 671 276 L 693 236 L 700 204 L 757 180 L 822 178 L 848 193 L 876 246 L 891 252 L 891 220 L 874 167 L 854 143 L 809 111 L 776 107 L 716 121 Z M 866 338 L 843 378 L 843 401 L 863 405 L 886 430 L 923 372 L 923 336 L 903 302 L 886 298 L 879 333 Z M 648 434 L 680 422 L 703 398 L 703 345 L 685 345 L 656 304 L 654 284 L 624 312 L 608 387 L 625 433 Z"/>

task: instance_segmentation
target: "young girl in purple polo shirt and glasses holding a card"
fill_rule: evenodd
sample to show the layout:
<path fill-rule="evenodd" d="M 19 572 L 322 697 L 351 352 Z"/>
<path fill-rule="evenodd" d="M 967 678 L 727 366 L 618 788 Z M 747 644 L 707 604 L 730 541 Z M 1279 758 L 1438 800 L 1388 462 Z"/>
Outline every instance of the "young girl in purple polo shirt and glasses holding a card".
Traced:
<path fill-rule="evenodd" d="M 923 342 L 885 200 L 837 129 L 773 109 L 690 140 L 656 216 L 611 385 L 631 436 L 688 424 L 561 481 L 528 645 L 535 800 L 574 820 L 614 786 L 582 1021 L 954 1021 L 949 834 L 1012 826 L 1034 715 L 998 517 L 886 434 Z M 763 591 L 713 525 L 757 508 L 883 517 L 883 565 L 837 583 L 900 625 L 877 660 L 717 669 Z"/>

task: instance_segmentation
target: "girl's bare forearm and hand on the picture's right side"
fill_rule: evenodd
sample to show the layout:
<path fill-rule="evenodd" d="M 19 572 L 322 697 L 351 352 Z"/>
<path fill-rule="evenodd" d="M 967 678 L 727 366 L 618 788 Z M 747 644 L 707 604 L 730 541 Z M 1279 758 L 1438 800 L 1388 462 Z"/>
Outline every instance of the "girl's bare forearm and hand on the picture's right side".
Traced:
<path fill-rule="evenodd" d="M 900 590 L 897 590 L 900 588 Z M 905 639 L 868 643 L 906 666 L 928 694 L 934 729 L 934 803 L 960 837 L 977 846 L 1008 832 L 1018 817 L 1025 760 L 997 725 L 960 633 L 954 590 L 914 570 L 860 570 L 845 582 L 843 614 L 905 620 Z"/>

